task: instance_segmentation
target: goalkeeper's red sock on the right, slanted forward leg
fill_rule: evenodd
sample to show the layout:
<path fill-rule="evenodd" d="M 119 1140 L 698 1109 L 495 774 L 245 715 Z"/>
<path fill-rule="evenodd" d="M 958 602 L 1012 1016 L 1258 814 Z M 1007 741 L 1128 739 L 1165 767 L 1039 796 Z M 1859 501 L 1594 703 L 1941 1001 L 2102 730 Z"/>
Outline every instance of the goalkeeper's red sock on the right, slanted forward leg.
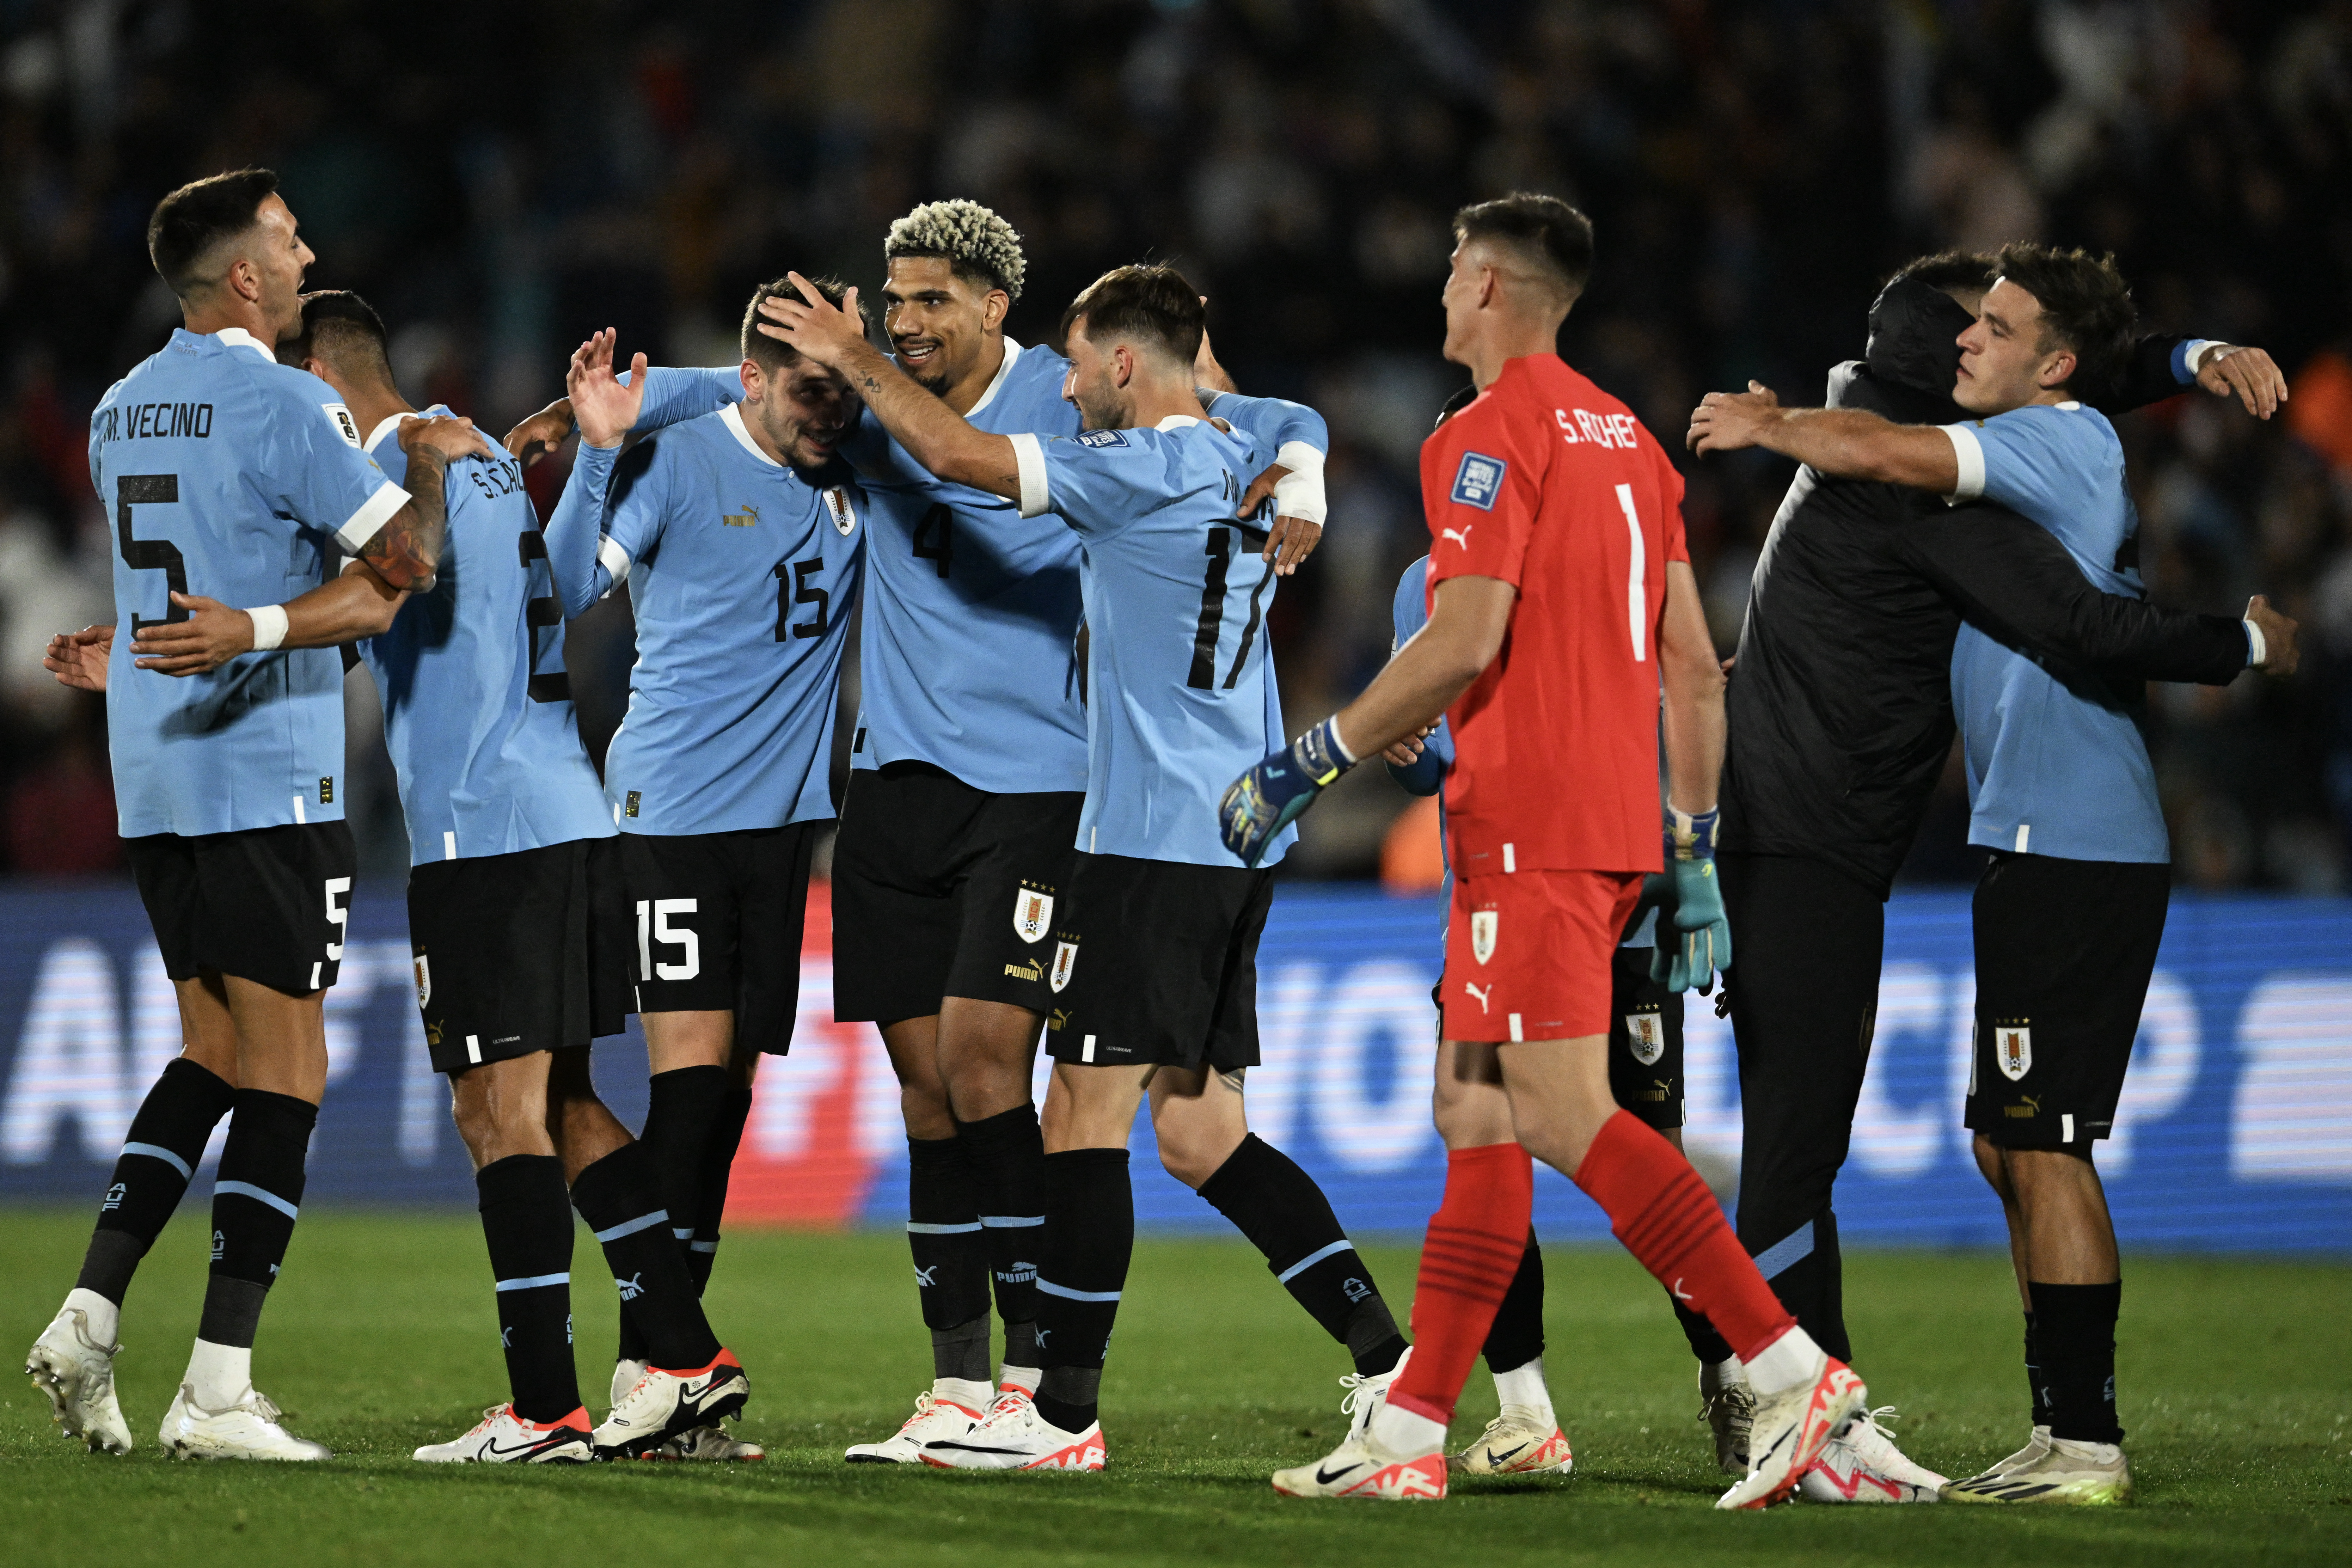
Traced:
<path fill-rule="evenodd" d="M 1585 1161 L 1576 1166 L 1576 1185 L 1609 1211 L 1609 1229 L 1625 1251 L 1677 1302 L 1703 1312 L 1743 1361 L 1797 1321 L 1731 1234 L 1731 1222 L 1691 1161 L 1637 1117 L 1618 1112 L 1602 1124 Z"/>

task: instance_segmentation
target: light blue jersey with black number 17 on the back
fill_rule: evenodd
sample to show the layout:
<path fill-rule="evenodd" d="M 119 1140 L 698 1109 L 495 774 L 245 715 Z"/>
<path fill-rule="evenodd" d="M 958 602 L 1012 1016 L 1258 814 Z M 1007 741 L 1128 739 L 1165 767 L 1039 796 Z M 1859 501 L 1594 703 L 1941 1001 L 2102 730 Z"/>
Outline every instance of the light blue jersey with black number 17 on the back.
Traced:
<path fill-rule="evenodd" d="M 1087 804 L 1077 849 L 1232 865 L 1216 802 L 1279 748 L 1265 531 L 1232 515 L 1272 449 L 1169 416 L 1150 430 L 1016 435 L 1021 512 L 1084 541 Z M 1261 865 L 1298 842 L 1284 827 Z"/>

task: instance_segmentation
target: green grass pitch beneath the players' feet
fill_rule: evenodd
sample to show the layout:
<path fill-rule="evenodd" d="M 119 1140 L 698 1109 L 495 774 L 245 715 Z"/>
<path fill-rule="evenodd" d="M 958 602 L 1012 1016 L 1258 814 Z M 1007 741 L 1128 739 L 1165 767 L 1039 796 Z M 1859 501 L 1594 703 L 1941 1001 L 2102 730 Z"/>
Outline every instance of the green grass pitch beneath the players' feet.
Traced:
<path fill-rule="evenodd" d="M 73 1281 L 87 1215 L 0 1211 L 0 1345 L 31 1345 Z M 1376 1248 L 1390 1300 L 1411 1253 Z M 489 1274 L 470 1215 L 303 1215 L 256 1354 L 320 1467 L 172 1462 L 155 1422 L 202 1291 L 200 1215 L 165 1232 L 132 1293 L 120 1361 L 139 1448 L 94 1458 L 21 1380 L 0 1392 L 9 1488 L 0 1561 L 35 1563 L 2345 1563 L 2352 1561 L 2352 1269 L 2126 1265 L 2129 1509 L 1710 1509 L 1724 1479 L 1693 1420 L 1691 1359 L 1623 1255 L 1548 1253 L 1548 1368 L 1576 1476 L 1465 1483 L 1442 1505 L 1277 1497 L 1277 1465 L 1343 1429 L 1338 1349 L 1230 1241 L 1145 1239 L 1105 1380 L 1101 1476 L 849 1467 L 927 1385 L 889 1234 L 731 1234 L 713 1319 L 753 1375 L 764 1465 L 421 1467 L 503 1399 Z M 1877 1401 L 1912 1455 L 1966 1472 L 2025 1434 L 2006 1260 L 1863 1253 L 1846 1302 Z M 595 1244 L 574 1272 L 581 1387 L 602 1403 L 616 1300 Z M 14 1366 L 14 1363 L 12 1363 Z M 1472 1375 L 1456 1436 L 1494 1413 Z"/>

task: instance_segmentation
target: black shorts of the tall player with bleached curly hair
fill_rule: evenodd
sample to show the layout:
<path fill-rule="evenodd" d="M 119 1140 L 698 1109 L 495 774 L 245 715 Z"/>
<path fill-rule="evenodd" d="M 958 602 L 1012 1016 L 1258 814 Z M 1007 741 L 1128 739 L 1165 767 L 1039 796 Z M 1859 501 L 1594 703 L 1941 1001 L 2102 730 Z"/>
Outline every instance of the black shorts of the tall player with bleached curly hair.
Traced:
<path fill-rule="evenodd" d="M 990 795 L 929 762 L 849 776 L 833 839 L 833 1016 L 929 1018 L 941 997 L 1054 1006 L 1054 912 L 1084 795 Z"/>

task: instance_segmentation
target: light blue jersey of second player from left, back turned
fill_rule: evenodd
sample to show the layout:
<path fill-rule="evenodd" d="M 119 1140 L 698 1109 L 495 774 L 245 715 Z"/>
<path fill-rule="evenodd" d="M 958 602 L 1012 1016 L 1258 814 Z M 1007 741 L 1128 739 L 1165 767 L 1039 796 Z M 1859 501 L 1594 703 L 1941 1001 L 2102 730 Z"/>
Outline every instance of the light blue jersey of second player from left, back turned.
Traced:
<path fill-rule="evenodd" d="M 435 407 L 426 414 L 447 414 Z M 400 418 L 367 437 L 405 477 Z M 564 675 L 564 611 L 522 468 L 503 451 L 449 463 L 449 534 L 433 592 L 360 644 L 400 773 L 409 865 L 609 839 Z"/>

